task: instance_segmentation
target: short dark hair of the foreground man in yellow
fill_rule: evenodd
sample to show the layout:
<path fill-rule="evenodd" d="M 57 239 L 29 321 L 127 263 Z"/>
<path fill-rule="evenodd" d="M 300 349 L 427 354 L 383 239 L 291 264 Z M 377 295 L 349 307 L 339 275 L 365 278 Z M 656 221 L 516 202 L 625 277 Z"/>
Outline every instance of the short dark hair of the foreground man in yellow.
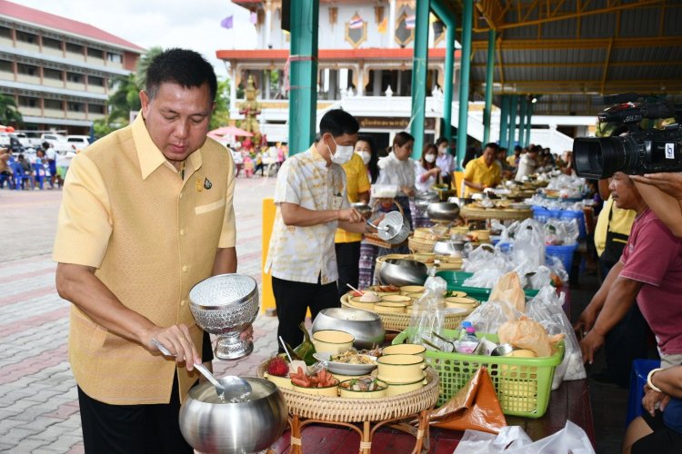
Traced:
<path fill-rule="evenodd" d="M 161 84 L 178 84 L 184 88 L 208 84 L 211 100 L 216 99 L 218 82 L 213 66 L 201 54 L 188 49 L 167 49 L 155 56 L 146 70 L 146 94 L 154 99 Z"/>

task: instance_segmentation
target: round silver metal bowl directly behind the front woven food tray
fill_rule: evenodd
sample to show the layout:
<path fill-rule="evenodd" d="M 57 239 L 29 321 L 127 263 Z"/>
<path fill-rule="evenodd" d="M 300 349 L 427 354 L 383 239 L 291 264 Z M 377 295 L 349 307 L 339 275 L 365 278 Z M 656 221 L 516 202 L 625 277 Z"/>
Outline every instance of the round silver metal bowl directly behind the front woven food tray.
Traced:
<path fill-rule="evenodd" d="M 384 341 L 386 331 L 381 318 L 374 312 L 351 308 L 329 308 L 319 311 L 313 321 L 313 332 L 325 330 L 346 331 L 356 340 L 358 349 L 371 349 Z"/>

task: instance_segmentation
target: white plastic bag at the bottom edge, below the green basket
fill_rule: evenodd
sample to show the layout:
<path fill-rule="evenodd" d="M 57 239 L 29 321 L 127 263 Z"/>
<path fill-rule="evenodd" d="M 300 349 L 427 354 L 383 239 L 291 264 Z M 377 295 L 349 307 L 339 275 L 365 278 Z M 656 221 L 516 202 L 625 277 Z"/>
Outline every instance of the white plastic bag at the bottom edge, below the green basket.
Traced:
<path fill-rule="evenodd" d="M 466 429 L 454 454 L 595 454 L 585 430 L 567 420 L 564 429 L 533 441 L 520 426 L 507 426 L 495 435 Z"/>

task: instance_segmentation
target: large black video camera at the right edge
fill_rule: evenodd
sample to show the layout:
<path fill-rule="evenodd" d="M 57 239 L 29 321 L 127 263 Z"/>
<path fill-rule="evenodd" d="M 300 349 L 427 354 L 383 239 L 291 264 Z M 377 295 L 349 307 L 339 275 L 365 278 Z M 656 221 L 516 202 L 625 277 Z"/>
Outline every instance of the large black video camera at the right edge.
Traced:
<path fill-rule="evenodd" d="M 614 173 L 629 175 L 682 171 L 682 109 L 657 97 L 614 94 L 595 104 L 613 104 L 598 114 L 600 123 L 627 127 L 611 137 L 578 137 L 573 142 L 573 168 L 578 176 L 602 179 Z M 640 129 L 644 119 L 675 118 L 663 129 Z M 621 128 L 622 129 L 622 128 Z"/>

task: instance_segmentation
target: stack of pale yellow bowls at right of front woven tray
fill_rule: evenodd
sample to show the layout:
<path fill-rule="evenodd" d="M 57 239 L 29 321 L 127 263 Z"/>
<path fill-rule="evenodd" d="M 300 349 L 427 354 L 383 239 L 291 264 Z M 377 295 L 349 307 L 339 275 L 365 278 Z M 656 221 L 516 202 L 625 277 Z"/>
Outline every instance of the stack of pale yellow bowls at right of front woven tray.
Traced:
<path fill-rule="evenodd" d="M 424 371 L 426 349 L 424 347 L 416 344 L 402 344 L 386 347 L 386 349 L 384 349 L 384 355 L 376 360 L 376 378 L 388 385 L 387 397 L 420 390 L 426 385 Z M 413 354 L 405 354 L 406 351 L 413 352 Z"/>

